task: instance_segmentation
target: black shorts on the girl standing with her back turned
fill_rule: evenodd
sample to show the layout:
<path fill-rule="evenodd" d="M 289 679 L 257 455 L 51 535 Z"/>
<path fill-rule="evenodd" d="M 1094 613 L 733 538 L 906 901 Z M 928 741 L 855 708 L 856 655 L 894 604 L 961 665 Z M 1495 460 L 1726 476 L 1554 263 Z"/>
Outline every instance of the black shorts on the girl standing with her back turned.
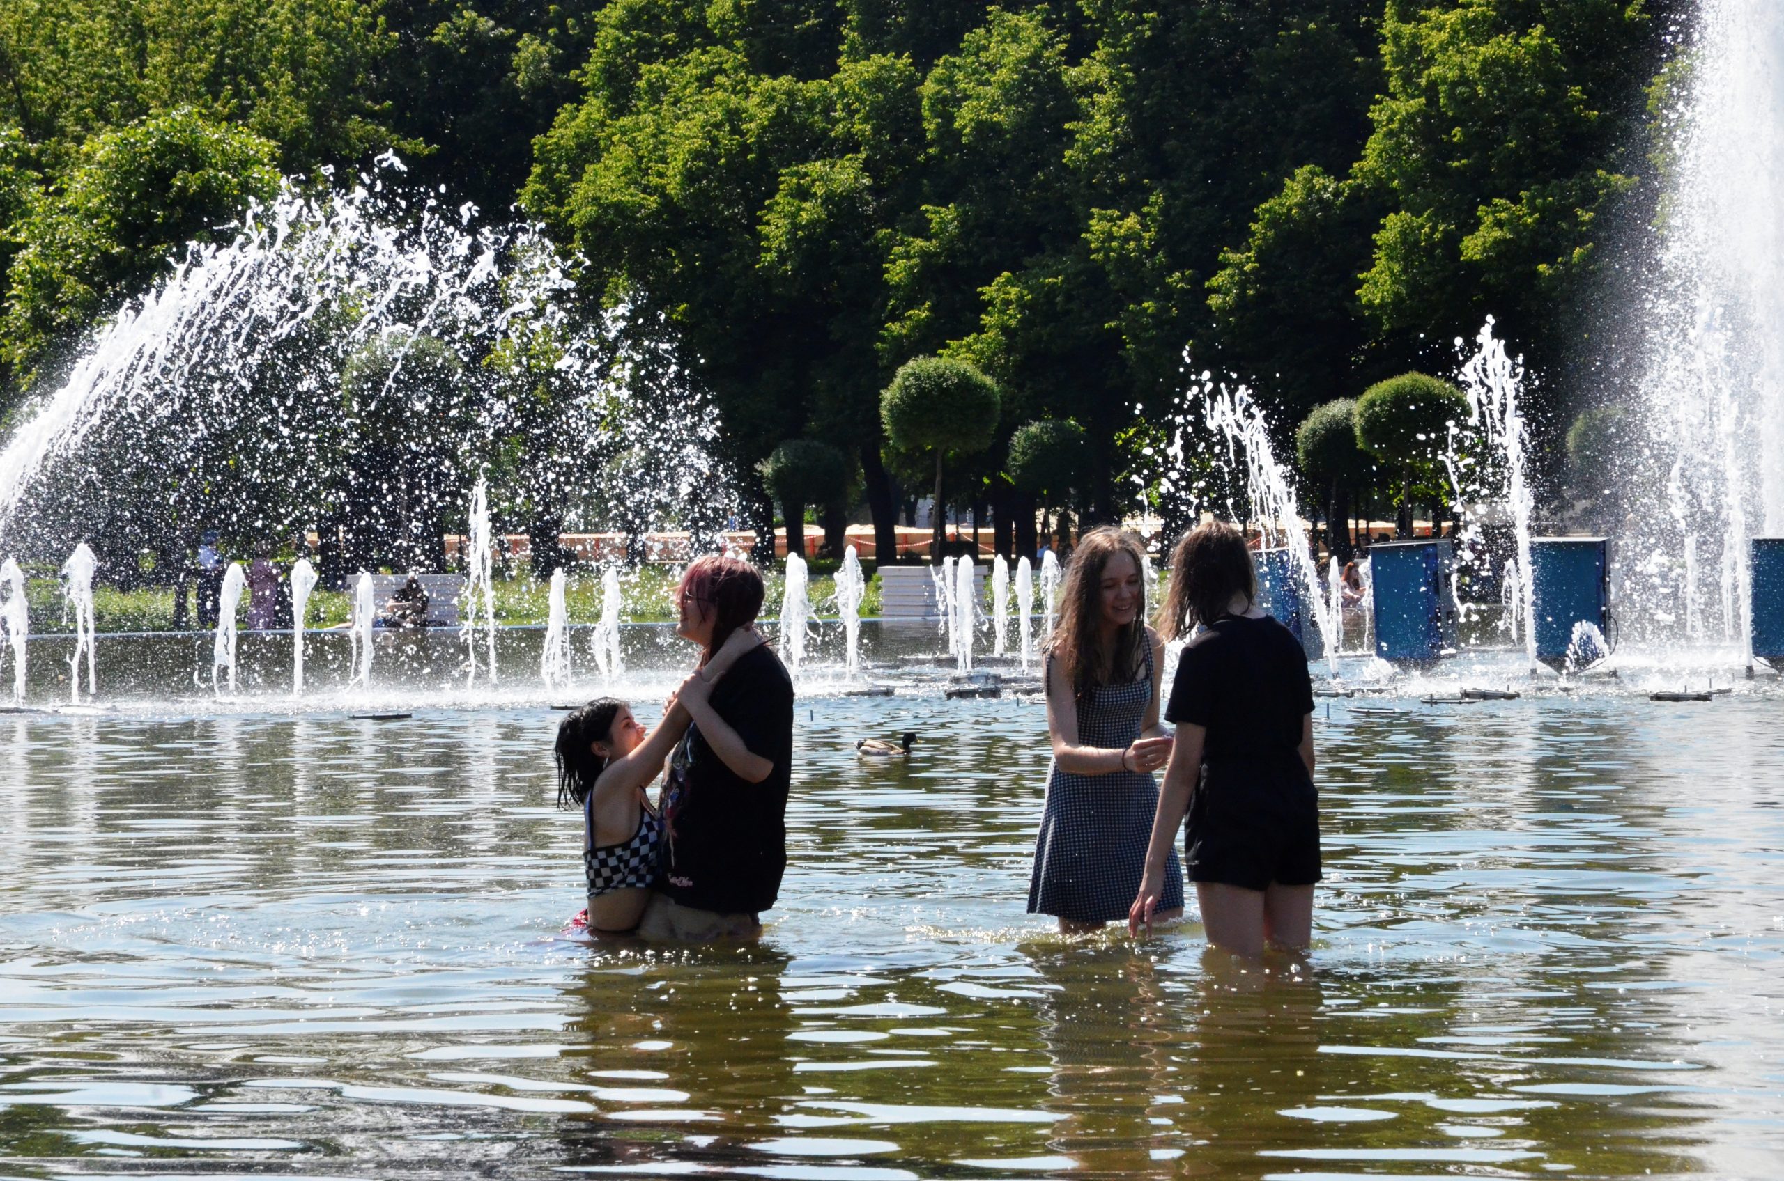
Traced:
<path fill-rule="evenodd" d="M 1190 799 L 1190 881 L 1263 890 L 1320 880 L 1320 796 L 1295 755 L 1210 765 Z"/>

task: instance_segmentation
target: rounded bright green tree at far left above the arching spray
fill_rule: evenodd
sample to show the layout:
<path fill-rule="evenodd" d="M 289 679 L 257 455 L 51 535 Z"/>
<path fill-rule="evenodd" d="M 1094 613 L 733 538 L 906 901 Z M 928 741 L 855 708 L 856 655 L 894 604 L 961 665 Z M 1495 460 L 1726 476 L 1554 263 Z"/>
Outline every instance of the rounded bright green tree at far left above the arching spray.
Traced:
<path fill-rule="evenodd" d="M 141 291 L 182 243 L 205 241 L 278 191 L 278 148 L 175 111 L 95 136 L 18 225 L 0 357 L 29 387 L 96 318 Z M 225 230 L 227 232 L 227 230 Z"/>

